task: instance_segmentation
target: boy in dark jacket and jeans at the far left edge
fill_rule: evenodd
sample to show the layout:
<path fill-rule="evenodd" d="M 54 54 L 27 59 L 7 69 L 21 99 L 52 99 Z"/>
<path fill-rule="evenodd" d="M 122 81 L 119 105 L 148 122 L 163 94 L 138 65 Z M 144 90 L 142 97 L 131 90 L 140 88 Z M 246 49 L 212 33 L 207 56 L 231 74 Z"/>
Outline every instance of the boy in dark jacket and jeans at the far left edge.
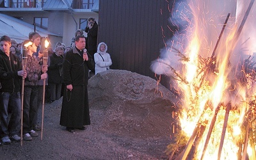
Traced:
<path fill-rule="evenodd" d="M 19 58 L 10 54 L 11 38 L 0 38 L 0 134 L 3 144 L 20 141 L 20 79 L 26 78 Z M 11 113 L 11 114 L 9 114 Z M 10 117 L 9 117 L 10 116 Z M 10 120 L 10 121 L 9 121 Z M 11 140 L 10 140 L 11 139 Z"/>

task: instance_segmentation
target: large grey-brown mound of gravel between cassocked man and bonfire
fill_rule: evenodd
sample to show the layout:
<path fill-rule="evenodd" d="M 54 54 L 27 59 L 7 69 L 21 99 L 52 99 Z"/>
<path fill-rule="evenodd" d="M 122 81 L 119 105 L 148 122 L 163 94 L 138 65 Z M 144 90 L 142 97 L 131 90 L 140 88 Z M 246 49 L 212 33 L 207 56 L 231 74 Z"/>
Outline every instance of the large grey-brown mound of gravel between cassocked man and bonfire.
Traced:
<path fill-rule="evenodd" d="M 90 108 L 99 114 L 100 130 L 134 138 L 170 135 L 177 100 L 156 80 L 127 70 L 108 70 L 89 79 L 88 93 Z"/>

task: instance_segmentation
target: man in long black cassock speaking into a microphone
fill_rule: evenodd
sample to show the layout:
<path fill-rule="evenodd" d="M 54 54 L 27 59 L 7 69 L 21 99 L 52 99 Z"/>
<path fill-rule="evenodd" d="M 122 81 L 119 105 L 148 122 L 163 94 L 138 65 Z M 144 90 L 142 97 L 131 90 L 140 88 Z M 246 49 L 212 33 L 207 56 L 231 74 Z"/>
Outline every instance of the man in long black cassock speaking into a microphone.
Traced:
<path fill-rule="evenodd" d="M 76 36 L 75 44 L 65 54 L 62 65 L 65 90 L 60 125 L 67 127 L 69 132 L 74 132 L 74 129 L 84 130 L 84 125 L 90 125 L 87 84 L 89 70 L 94 70 L 95 67 L 92 57 L 84 49 L 85 37 Z"/>

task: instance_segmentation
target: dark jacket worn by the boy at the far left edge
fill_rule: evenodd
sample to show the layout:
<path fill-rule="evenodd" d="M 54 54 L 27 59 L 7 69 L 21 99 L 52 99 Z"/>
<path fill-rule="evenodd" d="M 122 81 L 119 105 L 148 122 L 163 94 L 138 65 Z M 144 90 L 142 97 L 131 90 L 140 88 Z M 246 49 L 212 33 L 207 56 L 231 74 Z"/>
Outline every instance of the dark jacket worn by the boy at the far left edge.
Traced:
<path fill-rule="evenodd" d="M 19 57 L 14 54 L 8 57 L 0 50 L 0 92 L 20 92 L 22 77 L 18 76 L 19 70 L 22 70 Z"/>

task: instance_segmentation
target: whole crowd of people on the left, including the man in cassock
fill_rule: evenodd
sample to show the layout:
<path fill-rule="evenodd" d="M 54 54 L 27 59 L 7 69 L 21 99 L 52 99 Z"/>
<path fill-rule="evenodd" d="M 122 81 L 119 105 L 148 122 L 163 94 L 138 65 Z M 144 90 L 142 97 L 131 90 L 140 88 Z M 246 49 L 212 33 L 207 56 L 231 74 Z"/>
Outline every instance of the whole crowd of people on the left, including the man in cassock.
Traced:
<path fill-rule="evenodd" d="M 38 33 L 29 33 L 29 39 L 20 44 L 9 36 L 1 36 L 0 143 L 31 141 L 38 136 L 42 127 L 38 125 L 38 109 L 42 108 L 43 97 L 51 103 L 63 96 L 60 125 L 68 132 L 90 125 L 88 73 L 109 70 L 112 61 L 108 45 L 97 45 L 95 19 L 88 19 L 84 31 L 75 32 L 70 46 L 57 42 L 53 49 L 50 45 L 47 64 L 43 63 L 45 55 Z"/>

